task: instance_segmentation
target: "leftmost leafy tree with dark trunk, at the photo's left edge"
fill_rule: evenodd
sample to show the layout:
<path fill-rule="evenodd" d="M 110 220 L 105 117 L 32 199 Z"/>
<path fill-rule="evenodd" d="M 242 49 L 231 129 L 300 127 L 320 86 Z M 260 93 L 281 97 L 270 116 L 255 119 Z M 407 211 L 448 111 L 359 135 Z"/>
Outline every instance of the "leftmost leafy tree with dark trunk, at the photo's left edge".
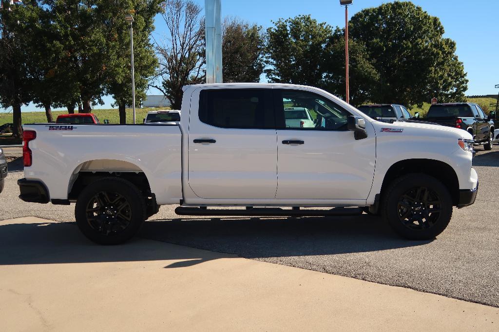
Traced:
<path fill-rule="evenodd" d="M 27 53 L 23 48 L 25 35 L 16 34 L 25 26 L 26 11 L 7 0 L 1 0 L 0 4 L 0 105 L 12 107 L 12 136 L 19 138 L 22 136 L 21 106 L 32 100 L 28 90 Z"/>

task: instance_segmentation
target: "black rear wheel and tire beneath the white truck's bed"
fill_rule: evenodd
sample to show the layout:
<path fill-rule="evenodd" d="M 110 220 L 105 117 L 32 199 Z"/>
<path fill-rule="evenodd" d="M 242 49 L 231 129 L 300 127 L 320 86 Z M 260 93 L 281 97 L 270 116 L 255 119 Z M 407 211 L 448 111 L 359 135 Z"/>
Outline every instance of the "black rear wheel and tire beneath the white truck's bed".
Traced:
<path fill-rule="evenodd" d="M 83 189 L 76 201 L 75 218 L 90 240 L 99 244 L 123 243 L 145 221 L 145 200 L 131 182 L 103 178 Z"/>

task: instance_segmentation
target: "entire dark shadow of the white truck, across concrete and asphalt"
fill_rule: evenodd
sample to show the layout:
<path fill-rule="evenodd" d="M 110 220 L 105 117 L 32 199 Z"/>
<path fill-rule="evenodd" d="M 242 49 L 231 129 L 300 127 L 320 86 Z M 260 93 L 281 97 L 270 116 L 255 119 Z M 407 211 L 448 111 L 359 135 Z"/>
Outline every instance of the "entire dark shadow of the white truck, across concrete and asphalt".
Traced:
<path fill-rule="evenodd" d="M 140 238 L 142 237 L 142 239 Z M 188 247 L 168 246 L 153 239 Z M 102 246 L 87 240 L 74 222 L 2 223 L 0 265 L 177 260 L 165 268 L 205 261 L 367 252 L 424 245 L 395 235 L 368 215 L 344 218 L 213 218 L 147 221 L 139 238 Z M 212 251 L 212 252 L 210 252 Z M 213 252 L 215 251 L 215 252 Z"/>

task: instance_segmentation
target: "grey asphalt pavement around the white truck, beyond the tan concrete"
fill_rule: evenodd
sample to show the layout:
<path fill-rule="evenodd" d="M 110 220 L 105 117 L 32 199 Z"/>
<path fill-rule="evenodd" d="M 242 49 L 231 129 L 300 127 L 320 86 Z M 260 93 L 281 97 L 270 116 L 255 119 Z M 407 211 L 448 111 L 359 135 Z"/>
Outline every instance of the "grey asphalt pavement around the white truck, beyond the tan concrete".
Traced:
<path fill-rule="evenodd" d="M 433 241 L 401 239 L 381 219 L 365 214 L 179 218 L 174 206 L 162 207 L 145 223 L 140 236 L 499 307 L 499 147 L 477 150 L 477 201 L 471 207 L 454 209 L 449 227 Z M 0 194 L 0 220 L 36 216 L 74 221 L 74 205 L 29 204 L 17 199 L 16 181 L 23 177 L 14 171 L 22 169 L 19 161 L 9 165 L 13 172 Z"/>

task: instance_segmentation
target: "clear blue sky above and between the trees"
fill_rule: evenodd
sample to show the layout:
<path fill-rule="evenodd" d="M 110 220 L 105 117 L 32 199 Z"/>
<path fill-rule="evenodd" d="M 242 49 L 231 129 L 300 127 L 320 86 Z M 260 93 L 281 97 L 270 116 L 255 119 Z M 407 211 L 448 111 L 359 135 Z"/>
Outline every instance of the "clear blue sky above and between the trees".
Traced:
<path fill-rule="evenodd" d="M 204 7 L 204 0 L 195 0 Z M 367 7 L 378 6 L 386 0 L 354 0 L 349 6 L 349 16 Z M 430 15 L 438 16 L 445 28 L 445 37 L 457 43 L 457 54 L 464 63 L 470 83 L 467 95 L 497 94 L 499 84 L 499 14 L 498 0 L 413 0 Z M 222 0 L 222 16 L 237 16 L 264 28 L 271 20 L 310 14 L 320 22 L 343 27 L 344 8 L 338 0 Z M 155 37 L 161 39 L 165 27 L 161 17 L 156 19 Z M 150 91 L 151 94 L 158 94 Z M 111 97 L 104 98 L 110 108 Z M 34 111 L 34 106 L 23 111 Z"/>

